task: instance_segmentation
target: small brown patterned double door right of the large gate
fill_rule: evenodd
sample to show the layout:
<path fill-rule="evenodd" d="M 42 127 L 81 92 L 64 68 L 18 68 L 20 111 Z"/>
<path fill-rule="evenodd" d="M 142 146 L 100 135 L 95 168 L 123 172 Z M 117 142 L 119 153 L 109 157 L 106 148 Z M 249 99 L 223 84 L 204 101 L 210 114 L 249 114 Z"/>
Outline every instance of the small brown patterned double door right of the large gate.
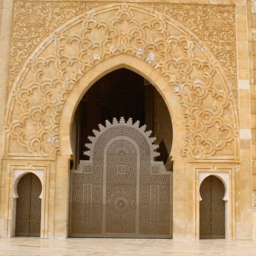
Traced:
<path fill-rule="evenodd" d="M 200 186 L 200 238 L 225 238 L 225 187 L 210 175 Z"/>

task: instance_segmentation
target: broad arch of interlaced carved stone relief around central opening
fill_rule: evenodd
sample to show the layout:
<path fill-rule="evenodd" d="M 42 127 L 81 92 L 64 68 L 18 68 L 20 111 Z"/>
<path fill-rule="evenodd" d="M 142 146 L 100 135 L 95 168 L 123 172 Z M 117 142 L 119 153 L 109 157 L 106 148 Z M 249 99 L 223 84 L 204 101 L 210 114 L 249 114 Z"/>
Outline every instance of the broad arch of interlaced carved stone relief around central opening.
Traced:
<path fill-rule="evenodd" d="M 130 3 L 80 15 L 34 51 L 8 99 L 6 156 L 22 152 L 23 156 L 54 158 L 68 95 L 96 64 L 119 54 L 133 56 L 161 74 L 168 83 L 168 89 L 160 91 L 162 96 L 177 95 L 186 128 L 180 155 L 238 158 L 236 101 L 221 65 L 177 21 Z"/>

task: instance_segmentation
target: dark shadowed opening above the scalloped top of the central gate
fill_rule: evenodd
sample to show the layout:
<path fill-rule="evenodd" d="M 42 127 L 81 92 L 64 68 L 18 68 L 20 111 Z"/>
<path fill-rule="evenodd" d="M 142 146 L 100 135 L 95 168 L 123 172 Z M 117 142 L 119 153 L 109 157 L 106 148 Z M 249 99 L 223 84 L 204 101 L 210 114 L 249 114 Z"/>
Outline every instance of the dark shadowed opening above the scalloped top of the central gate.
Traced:
<path fill-rule="evenodd" d="M 160 144 L 161 156 L 166 168 L 172 170 L 169 154 L 172 148 L 172 120 L 168 108 L 155 87 L 142 76 L 129 69 L 117 69 L 99 79 L 84 94 L 79 102 L 72 126 L 73 164 L 77 169 L 80 160 L 87 160 L 84 155 L 88 136 L 94 136 L 92 130 L 100 123 L 112 118 L 132 118 L 156 137 Z M 166 157 L 168 156 L 168 157 Z M 168 161 L 167 161 L 168 160 Z"/>

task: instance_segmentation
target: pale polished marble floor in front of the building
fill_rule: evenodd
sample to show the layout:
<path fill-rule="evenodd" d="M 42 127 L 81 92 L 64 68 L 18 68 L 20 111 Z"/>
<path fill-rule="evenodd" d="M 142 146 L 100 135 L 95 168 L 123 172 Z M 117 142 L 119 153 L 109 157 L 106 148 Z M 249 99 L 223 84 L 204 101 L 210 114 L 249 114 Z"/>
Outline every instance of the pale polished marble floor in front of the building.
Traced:
<path fill-rule="evenodd" d="M 256 255 L 256 241 L 129 238 L 0 238 L 1 255 Z"/>

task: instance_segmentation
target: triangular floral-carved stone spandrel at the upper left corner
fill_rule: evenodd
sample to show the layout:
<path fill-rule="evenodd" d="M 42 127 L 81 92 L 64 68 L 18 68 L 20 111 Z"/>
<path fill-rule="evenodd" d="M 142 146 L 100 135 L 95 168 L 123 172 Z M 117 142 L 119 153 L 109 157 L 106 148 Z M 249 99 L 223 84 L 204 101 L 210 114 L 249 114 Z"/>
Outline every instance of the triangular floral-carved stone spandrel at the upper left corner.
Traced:
<path fill-rule="evenodd" d="M 102 4 L 104 3 L 15 1 L 9 87 L 12 86 L 28 56 L 44 38 L 68 20 Z"/>

